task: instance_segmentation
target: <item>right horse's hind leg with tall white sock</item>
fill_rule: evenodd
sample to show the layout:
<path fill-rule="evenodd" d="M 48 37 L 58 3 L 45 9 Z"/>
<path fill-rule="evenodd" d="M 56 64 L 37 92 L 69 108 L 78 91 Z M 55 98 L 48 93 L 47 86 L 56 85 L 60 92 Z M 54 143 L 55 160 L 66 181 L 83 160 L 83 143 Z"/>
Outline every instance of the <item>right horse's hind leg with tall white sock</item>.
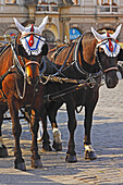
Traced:
<path fill-rule="evenodd" d="M 60 133 L 60 131 L 58 128 L 58 124 L 57 124 L 57 120 L 56 120 L 58 109 L 61 106 L 62 106 L 62 102 L 56 102 L 56 103 L 53 102 L 53 104 L 51 106 L 51 109 L 49 109 L 49 112 L 48 112 L 48 116 L 49 116 L 49 120 L 51 122 L 52 132 L 53 132 L 52 148 L 54 148 L 56 151 L 61 151 L 62 150 L 61 133 Z"/>

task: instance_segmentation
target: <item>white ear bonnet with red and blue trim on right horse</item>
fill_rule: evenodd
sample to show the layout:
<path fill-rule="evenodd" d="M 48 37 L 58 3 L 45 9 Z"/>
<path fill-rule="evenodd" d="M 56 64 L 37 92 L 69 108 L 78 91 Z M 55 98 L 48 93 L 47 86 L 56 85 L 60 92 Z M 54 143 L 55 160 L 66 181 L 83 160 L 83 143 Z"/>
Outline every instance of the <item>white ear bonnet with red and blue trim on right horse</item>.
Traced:
<path fill-rule="evenodd" d="M 113 34 L 104 33 L 104 34 L 99 34 L 97 33 L 93 27 L 91 32 L 95 36 L 95 38 L 98 40 L 97 47 L 100 47 L 104 50 L 104 53 L 108 57 L 116 57 L 120 52 L 120 45 L 116 44 L 114 40 L 120 34 L 122 24 L 120 24 L 116 28 L 116 30 Z M 108 39 L 107 39 L 108 38 Z M 111 39 L 110 39 L 111 38 Z"/>

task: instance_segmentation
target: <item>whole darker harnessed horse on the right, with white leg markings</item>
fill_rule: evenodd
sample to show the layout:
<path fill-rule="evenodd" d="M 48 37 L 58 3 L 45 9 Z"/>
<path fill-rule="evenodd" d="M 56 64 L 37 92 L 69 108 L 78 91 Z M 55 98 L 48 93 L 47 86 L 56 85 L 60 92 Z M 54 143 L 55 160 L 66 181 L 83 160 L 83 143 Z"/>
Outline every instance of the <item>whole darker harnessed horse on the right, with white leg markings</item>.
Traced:
<path fill-rule="evenodd" d="M 63 78 L 67 79 L 67 82 L 69 79 L 71 79 L 71 82 L 72 79 L 77 79 L 78 86 L 83 84 L 83 88 L 77 88 L 78 86 L 75 86 L 77 90 L 74 91 L 71 91 L 70 89 L 72 89 L 72 85 L 75 84 L 64 83 L 64 81 L 62 84 L 59 82 L 48 82 L 45 86 L 45 97 L 47 102 L 44 104 L 44 112 L 41 112 L 44 127 L 42 147 L 45 150 L 51 150 L 49 145 L 49 135 L 47 133 L 48 115 L 53 130 L 52 147 L 58 151 L 62 149 L 60 131 L 58 130 L 56 116 L 59 108 L 63 104 L 63 102 L 65 102 L 69 116 L 67 128 L 70 132 L 70 140 L 65 159 L 67 162 L 77 161 L 74 133 L 77 125 L 75 111 L 78 111 L 77 108 L 79 106 L 81 110 L 85 107 L 85 159 L 93 160 L 97 158 L 91 147 L 90 139 L 93 113 L 98 101 L 102 76 L 104 77 L 108 88 L 114 88 L 119 82 L 116 72 L 121 48 L 115 39 L 120 34 L 120 30 L 121 25 L 112 35 L 108 33 L 100 35 L 91 28 L 90 33 L 84 34 L 75 42 L 62 46 L 58 49 L 52 49 L 47 55 L 53 64 L 50 63 L 50 66 L 47 66 L 46 75 L 49 74 L 49 69 L 50 73 L 52 71 L 53 77 L 61 77 L 61 79 L 59 77 L 59 81 L 62 81 Z M 71 92 L 65 94 L 64 89 L 67 89 Z"/>

